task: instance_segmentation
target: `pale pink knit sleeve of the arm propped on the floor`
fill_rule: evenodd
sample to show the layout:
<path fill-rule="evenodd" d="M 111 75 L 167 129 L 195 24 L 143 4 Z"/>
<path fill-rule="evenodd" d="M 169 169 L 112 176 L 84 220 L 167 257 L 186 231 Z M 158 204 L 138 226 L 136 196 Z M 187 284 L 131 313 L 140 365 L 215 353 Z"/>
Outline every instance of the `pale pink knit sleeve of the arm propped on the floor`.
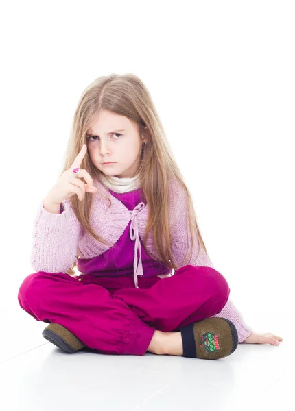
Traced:
<path fill-rule="evenodd" d="M 211 259 L 204 251 L 202 244 L 200 243 L 200 245 L 198 245 L 196 236 L 194 238 L 193 253 L 191 254 L 191 258 L 188 262 L 185 261 L 187 247 L 191 247 L 192 244 L 189 230 L 189 242 L 187 242 L 186 227 L 189 227 L 189 219 L 188 209 L 185 203 L 185 191 L 179 186 L 173 186 L 172 196 L 172 213 L 170 216 L 170 223 L 172 224 L 172 256 L 176 264 L 176 269 L 188 264 L 193 266 L 209 266 L 215 268 L 211 262 Z M 196 258 L 198 252 L 198 258 Z M 246 340 L 246 338 L 252 333 L 252 328 L 244 323 L 241 313 L 237 310 L 237 308 L 235 308 L 231 299 L 228 299 L 221 312 L 215 314 L 214 316 L 223 317 L 232 321 L 237 328 L 239 343 L 244 342 L 244 340 Z"/>

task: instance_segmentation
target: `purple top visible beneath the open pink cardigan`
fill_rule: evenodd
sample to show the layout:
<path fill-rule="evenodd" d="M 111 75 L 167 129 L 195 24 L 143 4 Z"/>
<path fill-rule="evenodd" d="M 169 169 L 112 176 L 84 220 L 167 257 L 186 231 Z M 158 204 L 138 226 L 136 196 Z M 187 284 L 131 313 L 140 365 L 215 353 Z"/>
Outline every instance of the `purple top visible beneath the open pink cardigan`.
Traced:
<path fill-rule="evenodd" d="M 117 193 L 112 190 L 108 190 L 110 193 L 119 199 L 128 210 L 134 210 L 136 206 L 141 203 L 145 204 L 143 199 L 143 193 L 141 188 L 131 191 Z M 103 275 L 103 276 L 117 276 L 117 275 L 131 275 L 134 274 L 134 246 L 135 241 L 130 238 L 130 221 L 123 232 L 119 240 L 101 256 L 95 258 L 79 258 L 77 262 L 77 268 L 81 273 Z M 138 237 L 139 238 L 139 237 Z M 169 269 L 166 264 L 157 262 L 150 258 L 141 243 L 141 260 L 143 266 L 143 276 L 151 277 L 153 275 L 163 275 L 172 273 L 172 269 Z"/>

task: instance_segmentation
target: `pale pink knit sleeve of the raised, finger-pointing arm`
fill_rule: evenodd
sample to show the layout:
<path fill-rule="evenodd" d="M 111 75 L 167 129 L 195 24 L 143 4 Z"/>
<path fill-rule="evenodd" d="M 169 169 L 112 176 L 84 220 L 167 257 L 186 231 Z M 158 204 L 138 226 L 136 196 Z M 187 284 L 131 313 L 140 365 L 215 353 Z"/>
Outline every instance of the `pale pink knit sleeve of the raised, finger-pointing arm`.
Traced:
<path fill-rule="evenodd" d="M 82 226 L 69 199 L 62 201 L 60 214 L 45 210 L 41 201 L 34 220 L 31 265 L 35 271 L 67 273 L 77 254 Z"/>

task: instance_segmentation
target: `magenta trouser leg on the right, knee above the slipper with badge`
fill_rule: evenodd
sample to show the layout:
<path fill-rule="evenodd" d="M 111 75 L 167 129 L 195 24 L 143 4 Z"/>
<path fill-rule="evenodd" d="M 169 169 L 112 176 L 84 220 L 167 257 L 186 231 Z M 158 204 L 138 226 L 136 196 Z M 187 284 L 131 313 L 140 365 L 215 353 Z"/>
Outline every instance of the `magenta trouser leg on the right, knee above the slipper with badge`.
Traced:
<path fill-rule="evenodd" d="M 126 303 L 139 319 L 163 332 L 201 321 L 219 313 L 226 305 L 230 288 L 224 276 L 207 266 L 187 265 L 172 277 L 160 279 L 150 288 L 130 286 L 113 293 Z M 133 285 L 131 284 L 133 282 Z"/>

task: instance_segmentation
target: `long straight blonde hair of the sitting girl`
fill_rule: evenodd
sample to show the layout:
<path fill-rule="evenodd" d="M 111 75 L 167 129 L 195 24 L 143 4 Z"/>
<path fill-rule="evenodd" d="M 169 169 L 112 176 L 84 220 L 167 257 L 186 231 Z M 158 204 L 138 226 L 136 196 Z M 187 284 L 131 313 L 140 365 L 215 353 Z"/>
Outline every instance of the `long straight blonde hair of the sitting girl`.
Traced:
<path fill-rule="evenodd" d="M 73 125 L 62 173 L 71 167 L 82 145 L 86 144 L 86 132 L 91 127 L 94 117 L 97 116 L 100 110 L 108 110 L 128 117 L 130 121 L 134 121 L 137 124 L 141 134 L 145 133 L 144 127 L 147 130 L 149 138 L 147 143 L 142 145 L 141 160 L 137 171 L 143 196 L 149 209 L 143 240 L 145 250 L 147 251 L 147 235 L 152 231 L 154 246 L 158 251 L 161 262 L 164 262 L 171 269 L 176 269 L 172 256 L 172 239 L 169 232 L 168 180 L 174 179 L 177 180 L 185 193 L 188 210 L 187 227 L 190 229 L 191 238 L 195 234 L 196 238 L 198 238 L 198 245 L 201 242 L 205 253 L 207 253 L 196 221 L 196 213 L 193 208 L 191 195 L 176 165 L 176 160 L 167 142 L 165 131 L 150 93 L 136 75 L 127 73 L 125 75 L 111 74 L 98 77 L 84 90 L 73 117 Z M 82 160 L 81 169 L 86 169 L 91 177 L 96 177 L 97 179 L 99 179 L 99 175 L 102 173 L 93 165 L 88 153 L 86 153 Z M 89 214 L 91 212 L 93 194 L 85 192 L 83 201 L 80 201 L 76 195 L 71 196 L 69 200 L 84 230 L 93 236 L 95 240 L 108 244 L 104 238 L 95 234 L 90 225 Z M 192 249 L 193 247 L 191 246 L 189 253 L 189 247 L 187 247 L 187 251 L 190 254 L 189 260 L 191 259 Z M 150 255 L 148 251 L 147 253 Z M 154 258 L 151 255 L 150 257 Z M 76 256 L 77 258 L 79 256 Z M 75 273 L 76 259 L 67 271 L 69 275 Z"/>

